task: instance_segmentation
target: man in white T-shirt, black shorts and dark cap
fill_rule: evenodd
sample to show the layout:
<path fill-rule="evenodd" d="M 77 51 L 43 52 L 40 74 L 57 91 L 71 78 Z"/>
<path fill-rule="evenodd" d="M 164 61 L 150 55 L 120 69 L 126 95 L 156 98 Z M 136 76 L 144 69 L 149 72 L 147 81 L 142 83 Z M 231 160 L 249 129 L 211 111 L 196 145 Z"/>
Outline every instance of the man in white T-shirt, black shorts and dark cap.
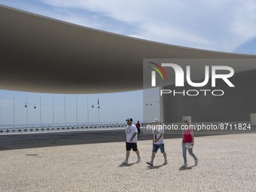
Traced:
<path fill-rule="evenodd" d="M 127 126 L 126 126 L 126 159 L 123 161 L 123 164 L 128 164 L 128 159 L 130 156 L 130 151 L 133 149 L 133 151 L 137 154 L 137 161 L 136 163 L 140 163 L 141 157 L 139 156 L 139 151 L 137 148 L 137 133 L 138 130 L 135 125 L 133 125 L 133 119 L 131 117 L 126 119 Z"/>

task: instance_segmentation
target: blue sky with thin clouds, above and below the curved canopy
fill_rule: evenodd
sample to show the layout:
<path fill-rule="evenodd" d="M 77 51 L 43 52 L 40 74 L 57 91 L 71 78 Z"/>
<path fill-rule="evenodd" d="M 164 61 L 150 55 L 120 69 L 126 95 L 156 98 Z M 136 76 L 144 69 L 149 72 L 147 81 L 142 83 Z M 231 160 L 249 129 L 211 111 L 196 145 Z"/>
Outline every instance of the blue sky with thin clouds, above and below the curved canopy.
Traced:
<path fill-rule="evenodd" d="M 186 47 L 233 53 L 256 54 L 256 2 L 253 0 L 172 0 L 172 1 L 93 1 L 93 0 L 0 0 L 0 4 L 35 14 L 76 23 L 136 38 Z M 89 104 L 100 101 L 101 121 L 121 121 L 128 116 L 142 120 L 142 91 L 130 93 L 59 95 L 0 91 L 1 124 L 26 123 L 26 96 L 29 99 L 29 123 L 39 123 L 41 96 L 43 123 L 52 122 L 54 97 L 55 122 L 64 122 L 63 100 L 66 96 L 67 121 L 87 122 Z M 157 102 L 157 101 L 152 101 Z M 151 108 L 154 110 L 154 107 Z M 90 121 L 97 121 L 96 108 L 90 107 Z"/>

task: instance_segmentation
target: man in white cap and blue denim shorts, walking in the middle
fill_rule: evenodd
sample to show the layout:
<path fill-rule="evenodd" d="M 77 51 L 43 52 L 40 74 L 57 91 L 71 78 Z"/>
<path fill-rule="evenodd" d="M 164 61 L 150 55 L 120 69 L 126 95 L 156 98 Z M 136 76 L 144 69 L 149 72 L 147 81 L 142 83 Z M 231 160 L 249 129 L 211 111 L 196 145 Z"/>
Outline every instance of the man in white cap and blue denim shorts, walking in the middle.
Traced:
<path fill-rule="evenodd" d="M 160 151 L 164 157 L 163 165 L 166 165 L 168 162 L 166 159 L 166 152 L 164 151 L 163 126 L 160 125 L 160 122 L 157 118 L 154 118 L 153 123 L 154 124 L 151 126 L 152 133 L 153 133 L 153 150 L 152 150 L 152 155 L 151 155 L 151 161 L 146 162 L 146 163 L 150 166 L 153 166 L 154 157 L 155 157 L 158 149 L 160 148 Z"/>

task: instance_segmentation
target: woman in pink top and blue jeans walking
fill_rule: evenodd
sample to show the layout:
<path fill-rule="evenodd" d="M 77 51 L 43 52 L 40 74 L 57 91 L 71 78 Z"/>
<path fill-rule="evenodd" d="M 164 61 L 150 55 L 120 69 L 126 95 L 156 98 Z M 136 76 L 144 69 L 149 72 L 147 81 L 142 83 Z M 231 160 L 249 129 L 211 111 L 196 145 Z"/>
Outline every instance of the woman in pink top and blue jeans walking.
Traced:
<path fill-rule="evenodd" d="M 183 120 L 182 123 L 182 154 L 184 159 L 184 164 L 181 166 L 182 168 L 187 168 L 187 151 L 191 157 L 195 160 L 195 165 L 198 164 L 198 158 L 193 153 L 193 146 L 194 146 L 194 133 L 191 129 L 188 120 Z"/>

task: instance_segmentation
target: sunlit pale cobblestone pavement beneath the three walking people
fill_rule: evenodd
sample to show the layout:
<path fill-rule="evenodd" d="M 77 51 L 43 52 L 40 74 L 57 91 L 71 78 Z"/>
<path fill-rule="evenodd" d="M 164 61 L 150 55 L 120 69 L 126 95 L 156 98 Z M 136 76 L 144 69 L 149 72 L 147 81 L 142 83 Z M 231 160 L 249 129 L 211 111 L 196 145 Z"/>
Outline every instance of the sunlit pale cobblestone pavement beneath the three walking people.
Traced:
<path fill-rule="evenodd" d="M 255 133 L 197 137 L 187 169 L 181 139 L 165 140 L 166 166 L 159 152 L 147 166 L 151 147 L 140 141 L 142 163 L 132 152 L 127 166 L 124 142 L 0 151 L 0 191 L 255 191 Z"/>

